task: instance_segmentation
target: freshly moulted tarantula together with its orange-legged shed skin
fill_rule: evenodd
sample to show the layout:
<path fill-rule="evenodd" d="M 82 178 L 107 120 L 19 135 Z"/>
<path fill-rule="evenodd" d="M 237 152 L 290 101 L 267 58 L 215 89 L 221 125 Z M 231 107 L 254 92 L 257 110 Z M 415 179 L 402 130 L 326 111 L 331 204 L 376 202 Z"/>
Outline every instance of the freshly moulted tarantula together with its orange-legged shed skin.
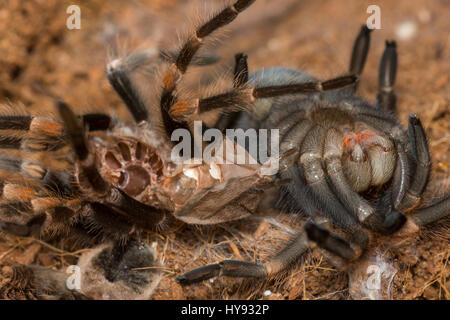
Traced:
<path fill-rule="evenodd" d="M 369 244 L 364 229 L 382 234 L 415 231 L 447 216 L 448 195 L 416 209 L 431 161 L 420 120 L 411 115 L 406 132 L 393 115 L 395 42 L 386 42 L 381 59 L 377 105 L 354 94 L 369 49 L 366 27 L 355 41 L 348 75 L 319 81 L 286 68 L 249 74 L 247 56 L 237 54 L 229 91 L 194 100 L 180 98 L 177 86 L 188 67 L 214 62 L 198 54 L 204 39 L 253 2 L 235 1 L 197 28 L 178 53 L 161 53 L 165 67 L 159 118 L 150 116 L 133 84 L 133 71 L 148 62 L 145 52 L 113 60 L 106 70 L 134 118 L 132 126 L 106 114 L 77 116 L 63 102 L 57 105 L 62 123 L 28 115 L 1 116 L 0 147 L 32 155 L 0 158 L 0 168 L 12 173 L 2 184 L 1 230 L 21 236 L 114 240 L 81 259 L 84 274 L 90 275 L 84 277 L 81 292 L 104 297 L 99 287 L 86 289 L 90 285 L 86 281 L 101 278 L 102 285 L 116 289 L 116 282 L 125 282 L 129 296 L 148 297 L 159 281 L 158 273 L 137 269 L 157 265 L 155 255 L 133 239 L 141 230 L 160 225 L 168 213 L 195 224 L 245 218 L 257 209 L 267 188 L 281 184 L 282 192 L 310 217 L 268 262 L 222 261 L 179 276 L 183 285 L 215 276 L 266 277 L 285 269 L 312 243 L 353 261 Z M 213 127 L 220 130 L 278 129 L 280 151 L 271 157 L 280 159 L 280 172 L 264 174 L 267 163 L 261 162 L 173 161 L 172 133 L 193 130 L 194 120 L 217 112 L 223 114 Z M 35 160 L 38 152 L 55 153 L 55 162 L 69 163 L 70 169 L 46 167 Z M 62 160 L 56 156 L 61 153 Z M 374 200 L 367 193 L 375 189 L 379 196 Z"/>

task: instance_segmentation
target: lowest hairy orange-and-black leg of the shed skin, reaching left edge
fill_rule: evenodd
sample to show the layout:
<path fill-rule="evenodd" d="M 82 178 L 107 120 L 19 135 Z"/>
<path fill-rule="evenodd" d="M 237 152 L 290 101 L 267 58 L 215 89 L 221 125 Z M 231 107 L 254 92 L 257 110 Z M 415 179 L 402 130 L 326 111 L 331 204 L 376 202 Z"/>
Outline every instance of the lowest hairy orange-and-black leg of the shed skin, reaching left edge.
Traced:
<path fill-rule="evenodd" d="M 45 223 L 46 228 L 52 230 L 52 234 L 60 234 L 60 231 L 69 231 L 75 222 L 85 230 L 90 230 L 92 236 L 107 236 L 108 239 L 127 239 L 135 230 L 135 225 L 146 229 L 152 229 L 160 220 L 155 220 L 151 207 L 142 208 L 135 203 L 100 203 L 83 202 L 80 200 L 64 200 L 54 197 L 39 197 L 27 188 L 18 186 L 5 186 L 3 198 L 9 201 L 0 205 L 0 230 L 19 235 L 39 235 Z M 14 198 L 11 193 L 15 191 Z M 26 194 L 27 192 L 27 194 Z M 35 197 L 32 200 L 28 200 Z M 126 205 L 127 211 L 124 211 Z M 148 219 L 143 218 L 143 213 L 148 214 Z M 140 217 L 135 217 L 139 211 Z M 127 215 L 127 212 L 133 214 Z M 83 215 L 83 219 L 71 221 L 77 213 Z"/>

